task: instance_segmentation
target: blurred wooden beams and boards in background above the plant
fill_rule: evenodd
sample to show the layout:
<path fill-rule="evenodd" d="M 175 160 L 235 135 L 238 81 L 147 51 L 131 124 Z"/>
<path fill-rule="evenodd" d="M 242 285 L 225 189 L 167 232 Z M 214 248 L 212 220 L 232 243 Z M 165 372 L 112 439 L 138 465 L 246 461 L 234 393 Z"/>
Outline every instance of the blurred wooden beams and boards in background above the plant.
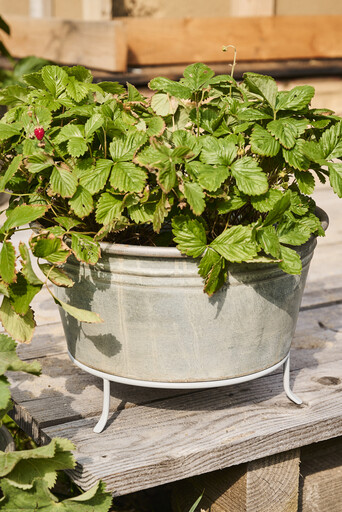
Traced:
<path fill-rule="evenodd" d="M 227 62 L 227 44 L 239 62 L 342 58 L 336 0 L 0 0 L 0 14 L 13 55 L 110 72 Z"/>

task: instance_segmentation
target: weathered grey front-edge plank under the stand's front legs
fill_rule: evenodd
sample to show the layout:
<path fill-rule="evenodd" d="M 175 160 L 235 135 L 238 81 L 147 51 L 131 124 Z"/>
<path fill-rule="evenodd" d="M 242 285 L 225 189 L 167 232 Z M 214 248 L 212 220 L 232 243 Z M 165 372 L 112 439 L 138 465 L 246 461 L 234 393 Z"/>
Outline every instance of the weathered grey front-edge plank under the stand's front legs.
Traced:
<path fill-rule="evenodd" d="M 295 406 L 280 375 L 238 389 L 205 390 L 114 414 L 95 436 L 95 418 L 43 429 L 43 439 L 68 437 L 93 478 L 111 491 L 138 489 L 252 461 L 342 434 L 341 360 L 292 372 Z M 205 414 L 204 414 L 205 411 Z M 95 436 L 95 437 L 94 437 Z"/>

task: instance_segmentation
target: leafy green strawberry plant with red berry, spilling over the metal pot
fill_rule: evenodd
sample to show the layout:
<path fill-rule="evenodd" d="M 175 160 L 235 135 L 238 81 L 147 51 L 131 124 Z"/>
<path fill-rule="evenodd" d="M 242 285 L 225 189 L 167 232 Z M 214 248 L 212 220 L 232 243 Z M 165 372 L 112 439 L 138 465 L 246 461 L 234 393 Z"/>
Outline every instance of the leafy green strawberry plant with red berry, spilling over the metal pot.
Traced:
<path fill-rule="evenodd" d="M 324 234 L 315 178 L 342 196 L 341 118 L 310 108 L 311 86 L 278 92 L 256 73 L 238 84 L 201 63 L 178 82 L 151 80 L 151 98 L 129 84 L 95 84 L 81 66 L 46 66 L 23 80 L 0 94 L 10 107 L 0 122 L 0 191 L 11 190 L 0 319 L 19 341 L 32 338 L 30 303 L 44 284 L 30 251 L 46 283 L 71 288 L 60 266 L 72 255 L 92 268 L 101 241 L 176 245 L 198 259 L 211 296 L 235 263 L 300 274 L 296 246 Z M 11 236 L 33 221 L 40 229 L 16 255 Z M 101 321 L 54 298 L 78 320 Z"/>

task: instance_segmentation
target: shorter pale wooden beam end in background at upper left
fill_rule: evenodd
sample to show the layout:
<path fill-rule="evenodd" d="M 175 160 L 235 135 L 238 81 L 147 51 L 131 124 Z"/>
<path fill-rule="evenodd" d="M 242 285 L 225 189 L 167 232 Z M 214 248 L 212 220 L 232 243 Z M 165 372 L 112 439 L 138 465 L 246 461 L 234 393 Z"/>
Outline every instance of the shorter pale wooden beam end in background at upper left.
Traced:
<path fill-rule="evenodd" d="M 36 55 L 62 64 L 125 71 L 127 47 L 123 23 L 66 21 L 7 16 L 11 36 L 4 42 L 15 57 Z"/>

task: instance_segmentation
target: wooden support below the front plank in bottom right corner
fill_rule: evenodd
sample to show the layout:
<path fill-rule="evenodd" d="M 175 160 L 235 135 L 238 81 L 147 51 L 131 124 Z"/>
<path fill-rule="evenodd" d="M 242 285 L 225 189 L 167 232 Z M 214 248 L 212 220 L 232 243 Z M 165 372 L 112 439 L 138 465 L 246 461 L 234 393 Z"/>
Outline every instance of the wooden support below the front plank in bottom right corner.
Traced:
<path fill-rule="evenodd" d="M 301 512 L 341 511 L 341 438 L 302 448 L 300 472 Z"/>

